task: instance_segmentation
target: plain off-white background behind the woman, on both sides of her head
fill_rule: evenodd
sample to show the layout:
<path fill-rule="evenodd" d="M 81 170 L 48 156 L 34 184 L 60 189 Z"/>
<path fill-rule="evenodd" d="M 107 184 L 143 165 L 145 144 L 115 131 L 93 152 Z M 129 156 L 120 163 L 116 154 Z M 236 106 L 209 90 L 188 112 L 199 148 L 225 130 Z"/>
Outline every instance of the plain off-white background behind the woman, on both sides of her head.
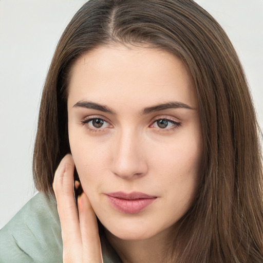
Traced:
<path fill-rule="evenodd" d="M 35 193 L 41 91 L 59 37 L 83 0 L 0 0 L 0 228 Z M 197 0 L 227 31 L 263 127 L 263 0 Z"/>

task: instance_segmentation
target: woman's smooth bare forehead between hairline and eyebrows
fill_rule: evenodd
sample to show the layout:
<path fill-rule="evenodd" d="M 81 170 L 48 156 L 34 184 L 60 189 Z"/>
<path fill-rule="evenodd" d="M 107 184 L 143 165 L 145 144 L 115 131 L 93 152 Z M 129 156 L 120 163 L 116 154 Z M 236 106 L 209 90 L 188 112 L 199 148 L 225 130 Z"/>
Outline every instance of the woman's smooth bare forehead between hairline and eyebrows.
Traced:
<path fill-rule="evenodd" d="M 195 88 L 183 62 L 167 51 L 123 45 L 100 46 L 72 66 L 68 100 L 138 105 L 176 100 L 196 107 Z"/>

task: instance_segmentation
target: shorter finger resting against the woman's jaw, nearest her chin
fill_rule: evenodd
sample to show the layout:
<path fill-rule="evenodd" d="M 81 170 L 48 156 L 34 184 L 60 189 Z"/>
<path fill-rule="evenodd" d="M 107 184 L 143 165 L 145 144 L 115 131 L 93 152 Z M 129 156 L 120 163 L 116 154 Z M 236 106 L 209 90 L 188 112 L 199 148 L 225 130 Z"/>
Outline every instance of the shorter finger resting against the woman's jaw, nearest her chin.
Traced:
<path fill-rule="evenodd" d="M 101 263 L 101 243 L 98 222 L 88 197 L 83 193 L 78 200 L 80 228 L 83 247 L 83 262 Z"/>

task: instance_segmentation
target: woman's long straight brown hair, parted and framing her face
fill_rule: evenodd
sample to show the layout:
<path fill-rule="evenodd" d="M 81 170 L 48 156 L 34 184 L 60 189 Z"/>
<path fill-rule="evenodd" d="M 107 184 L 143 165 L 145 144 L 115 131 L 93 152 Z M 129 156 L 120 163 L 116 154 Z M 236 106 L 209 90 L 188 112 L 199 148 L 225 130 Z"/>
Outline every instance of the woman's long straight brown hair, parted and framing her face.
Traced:
<path fill-rule="evenodd" d="M 74 15 L 43 90 L 33 159 L 36 188 L 52 194 L 55 169 L 70 152 L 66 88 L 72 63 L 112 42 L 174 53 L 196 87 L 202 180 L 175 238 L 176 262 L 263 262 L 262 163 L 248 84 L 226 33 L 191 0 L 90 0 Z"/>

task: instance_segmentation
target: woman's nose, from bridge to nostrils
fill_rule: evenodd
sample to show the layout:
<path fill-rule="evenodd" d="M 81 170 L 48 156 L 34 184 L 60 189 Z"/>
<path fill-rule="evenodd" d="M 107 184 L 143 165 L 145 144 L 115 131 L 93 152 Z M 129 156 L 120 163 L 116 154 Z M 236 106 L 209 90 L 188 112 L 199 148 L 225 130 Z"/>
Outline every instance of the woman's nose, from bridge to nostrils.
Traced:
<path fill-rule="evenodd" d="M 146 175 L 148 166 L 143 138 L 129 129 L 121 132 L 115 140 L 112 173 L 123 179 L 134 179 Z"/>

